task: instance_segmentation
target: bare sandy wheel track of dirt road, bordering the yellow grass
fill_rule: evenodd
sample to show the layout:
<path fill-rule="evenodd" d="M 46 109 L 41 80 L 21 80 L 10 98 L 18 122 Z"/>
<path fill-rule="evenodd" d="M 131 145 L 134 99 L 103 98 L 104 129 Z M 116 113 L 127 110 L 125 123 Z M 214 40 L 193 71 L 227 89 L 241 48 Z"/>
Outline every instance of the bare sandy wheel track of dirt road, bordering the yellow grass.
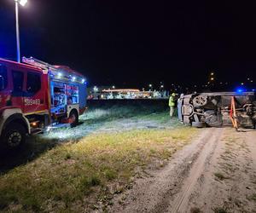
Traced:
<path fill-rule="evenodd" d="M 115 198 L 111 212 L 183 212 L 189 196 L 217 147 L 222 129 L 205 129 L 191 144 L 175 153 L 163 170 L 138 179 L 127 192 L 124 204 Z M 124 196 L 124 195 L 120 195 Z"/>

